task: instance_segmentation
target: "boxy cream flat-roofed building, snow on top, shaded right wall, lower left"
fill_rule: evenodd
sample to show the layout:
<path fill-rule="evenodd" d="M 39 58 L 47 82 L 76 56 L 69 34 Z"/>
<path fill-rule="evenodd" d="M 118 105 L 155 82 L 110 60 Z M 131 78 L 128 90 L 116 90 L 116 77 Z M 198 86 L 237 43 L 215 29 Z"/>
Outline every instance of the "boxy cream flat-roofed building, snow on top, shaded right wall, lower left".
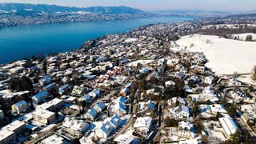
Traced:
<path fill-rule="evenodd" d="M 32 113 L 32 117 L 35 121 L 41 122 L 42 124 L 50 124 L 56 119 L 55 113 L 49 110 L 37 109 Z"/>

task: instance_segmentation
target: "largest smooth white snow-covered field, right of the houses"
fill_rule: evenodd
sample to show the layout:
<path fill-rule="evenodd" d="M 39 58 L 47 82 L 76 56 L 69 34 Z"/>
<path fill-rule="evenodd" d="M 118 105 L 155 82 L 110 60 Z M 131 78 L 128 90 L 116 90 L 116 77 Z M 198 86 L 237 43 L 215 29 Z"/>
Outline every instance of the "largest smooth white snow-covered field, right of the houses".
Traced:
<path fill-rule="evenodd" d="M 206 42 L 207 39 L 210 42 Z M 194 46 L 191 47 L 191 44 Z M 185 36 L 177 41 L 182 50 L 203 52 L 210 67 L 216 74 L 250 73 L 256 65 L 256 42 L 243 42 L 218 36 L 194 34 Z"/>

